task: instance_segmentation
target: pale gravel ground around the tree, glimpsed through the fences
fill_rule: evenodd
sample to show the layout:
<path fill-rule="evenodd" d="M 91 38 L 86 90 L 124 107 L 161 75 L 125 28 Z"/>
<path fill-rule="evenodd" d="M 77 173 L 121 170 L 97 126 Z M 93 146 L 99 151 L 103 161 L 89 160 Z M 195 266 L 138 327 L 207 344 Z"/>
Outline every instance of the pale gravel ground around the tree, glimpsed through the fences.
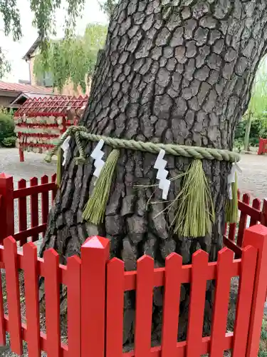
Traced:
<path fill-rule="evenodd" d="M 0 173 L 4 172 L 14 177 L 14 187 L 17 187 L 19 179 L 25 178 L 29 181 L 31 177 L 41 178 L 44 174 L 51 176 L 56 172 L 56 161 L 51 164 L 47 164 L 43 161 L 45 155 L 26 153 L 25 162 L 19 162 L 19 151 L 17 149 L 0 149 Z M 250 193 L 251 198 L 267 198 L 267 155 L 257 156 L 255 152 L 252 154 L 241 154 L 242 159 L 239 166 L 242 169 L 242 174 L 239 174 L 239 188 L 242 193 Z M 28 208 L 30 207 L 29 200 L 27 201 Z M 28 209 L 29 212 L 29 209 Z M 41 211 L 39 207 L 39 216 L 41 221 Z M 30 216 L 28 213 L 28 226 L 30 224 Z M 18 208 L 15 202 L 15 231 L 18 231 Z M 39 247 L 41 244 L 41 237 L 36 242 Z M 4 278 L 4 274 L 3 274 Z M 237 286 L 234 283 L 233 289 Z M 21 296 L 23 296 L 23 281 L 21 281 Z M 7 306 L 5 304 L 5 308 Z M 267 307 L 266 307 L 267 309 Z M 25 312 L 25 306 L 23 305 L 23 298 L 21 303 L 21 310 Z M 42 329 L 45 328 L 44 318 L 41 318 Z M 64 332 L 64 331 L 63 331 Z M 63 333 L 65 335 L 65 333 Z M 63 337 L 63 340 L 66 338 Z M 23 357 L 28 356 L 26 343 L 23 345 L 24 353 Z M 0 355 L 3 357 L 16 357 L 15 353 L 12 353 L 9 349 L 4 351 L 5 348 L 0 347 Z M 46 356 L 46 353 L 42 353 L 42 357 Z M 229 352 L 226 352 L 226 356 L 231 356 Z"/>

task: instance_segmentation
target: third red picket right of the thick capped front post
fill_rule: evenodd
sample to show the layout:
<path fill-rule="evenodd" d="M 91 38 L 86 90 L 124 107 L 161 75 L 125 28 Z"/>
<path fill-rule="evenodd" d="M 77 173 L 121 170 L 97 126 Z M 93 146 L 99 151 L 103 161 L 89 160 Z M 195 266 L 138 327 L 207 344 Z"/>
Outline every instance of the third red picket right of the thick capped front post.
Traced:
<path fill-rule="evenodd" d="M 182 256 L 172 253 L 165 261 L 162 323 L 162 357 L 177 353 L 177 334 L 181 290 Z"/>

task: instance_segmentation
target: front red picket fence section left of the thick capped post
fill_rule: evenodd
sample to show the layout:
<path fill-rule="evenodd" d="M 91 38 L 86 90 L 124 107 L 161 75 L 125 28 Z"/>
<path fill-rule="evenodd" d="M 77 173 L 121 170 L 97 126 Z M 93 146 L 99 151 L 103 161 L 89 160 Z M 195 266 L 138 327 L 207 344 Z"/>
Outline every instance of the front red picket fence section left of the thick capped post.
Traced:
<path fill-rule="evenodd" d="M 28 356 L 80 357 L 80 258 L 68 258 L 66 266 L 59 263 L 58 253 L 49 249 L 44 258 L 37 257 L 36 246 L 29 242 L 23 253 L 17 253 L 16 241 L 4 239 L 0 246 L 0 268 L 6 275 L 7 314 L 0 284 L 0 346 L 6 343 L 9 331 L 11 350 L 22 354 L 22 342 L 28 343 Z M 26 315 L 21 314 L 19 270 L 23 270 Z M 0 274 L 1 277 L 1 274 Z M 44 278 L 46 303 L 46 331 L 40 331 L 39 278 Z M 67 286 L 68 293 L 68 345 L 61 343 L 60 286 Z"/>

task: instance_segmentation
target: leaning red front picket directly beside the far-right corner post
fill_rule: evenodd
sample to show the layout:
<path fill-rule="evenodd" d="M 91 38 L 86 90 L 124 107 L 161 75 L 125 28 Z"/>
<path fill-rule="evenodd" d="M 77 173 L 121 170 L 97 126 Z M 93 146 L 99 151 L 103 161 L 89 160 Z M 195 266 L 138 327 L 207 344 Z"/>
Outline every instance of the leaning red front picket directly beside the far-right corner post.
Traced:
<path fill-rule="evenodd" d="M 251 246 L 244 248 L 241 260 L 239 296 L 236 307 L 236 323 L 234 327 L 234 347 L 232 357 L 246 355 L 246 342 L 253 298 L 253 286 L 256 274 L 257 251 Z"/>

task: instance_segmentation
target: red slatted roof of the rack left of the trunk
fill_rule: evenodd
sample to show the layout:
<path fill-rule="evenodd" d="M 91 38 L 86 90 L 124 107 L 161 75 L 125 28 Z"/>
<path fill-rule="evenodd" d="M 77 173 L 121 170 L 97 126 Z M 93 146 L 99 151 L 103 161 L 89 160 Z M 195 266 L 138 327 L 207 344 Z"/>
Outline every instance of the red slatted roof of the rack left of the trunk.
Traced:
<path fill-rule="evenodd" d="M 15 116 L 66 116 L 70 109 L 79 109 L 88 103 L 88 96 L 46 96 L 29 98 Z"/>

